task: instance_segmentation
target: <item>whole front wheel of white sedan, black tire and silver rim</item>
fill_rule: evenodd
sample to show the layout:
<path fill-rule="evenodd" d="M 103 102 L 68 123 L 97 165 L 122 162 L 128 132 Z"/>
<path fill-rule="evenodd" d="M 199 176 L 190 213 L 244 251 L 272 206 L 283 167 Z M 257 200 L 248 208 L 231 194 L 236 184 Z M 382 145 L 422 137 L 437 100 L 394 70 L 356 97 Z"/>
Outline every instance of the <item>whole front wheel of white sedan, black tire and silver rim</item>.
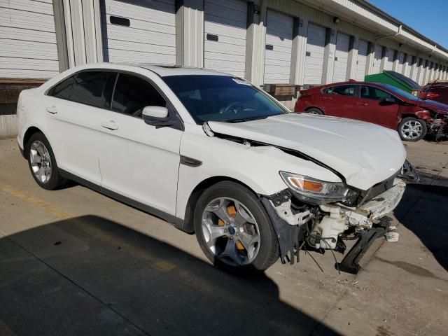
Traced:
<path fill-rule="evenodd" d="M 207 258 L 231 271 L 264 271 L 279 258 L 279 243 L 260 200 L 235 182 L 216 183 L 195 208 L 197 241 Z"/>

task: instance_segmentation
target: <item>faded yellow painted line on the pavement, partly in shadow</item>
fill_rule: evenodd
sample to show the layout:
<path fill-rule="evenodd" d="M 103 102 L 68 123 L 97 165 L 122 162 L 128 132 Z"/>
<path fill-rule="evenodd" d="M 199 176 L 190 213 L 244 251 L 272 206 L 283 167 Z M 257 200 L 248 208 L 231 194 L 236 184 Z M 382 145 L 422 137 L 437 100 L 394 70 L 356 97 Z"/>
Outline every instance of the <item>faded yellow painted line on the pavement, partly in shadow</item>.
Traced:
<path fill-rule="evenodd" d="M 88 234 L 101 239 L 102 241 L 106 241 L 107 244 L 123 246 L 123 240 L 120 240 L 120 238 L 111 235 L 107 231 L 94 228 L 92 227 L 92 225 L 90 225 L 90 223 L 83 221 L 83 219 L 77 218 L 73 214 L 69 214 L 59 207 L 55 207 L 50 203 L 40 200 L 23 190 L 10 186 L 6 183 L 1 183 L 0 181 L 0 191 L 8 193 L 9 195 L 17 197 L 19 200 L 28 202 L 34 207 L 38 207 L 39 209 L 46 211 L 57 220 L 71 221 L 71 223 L 78 225 L 78 228 L 80 230 L 83 230 Z M 147 260 L 149 262 L 149 265 L 155 267 L 161 272 L 168 272 L 169 270 L 176 268 L 176 265 L 174 265 L 172 262 L 168 262 L 167 260 L 164 260 L 162 258 L 155 257 L 154 255 L 149 253 L 149 251 L 143 250 L 142 248 L 127 245 L 125 249 L 129 251 L 131 255 Z"/>

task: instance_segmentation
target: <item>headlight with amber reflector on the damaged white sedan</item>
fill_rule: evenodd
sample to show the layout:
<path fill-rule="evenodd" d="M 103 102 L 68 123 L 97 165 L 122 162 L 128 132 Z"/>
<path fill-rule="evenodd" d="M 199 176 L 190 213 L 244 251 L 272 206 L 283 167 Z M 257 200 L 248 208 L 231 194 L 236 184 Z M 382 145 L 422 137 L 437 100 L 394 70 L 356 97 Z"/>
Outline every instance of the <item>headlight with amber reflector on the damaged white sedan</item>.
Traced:
<path fill-rule="evenodd" d="M 325 182 L 287 172 L 280 172 L 280 176 L 293 190 L 295 197 L 306 202 L 327 204 L 353 200 L 353 198 L 356 200 L 358 197 L 355 190 L 351 190 L 342 182 Z"/>

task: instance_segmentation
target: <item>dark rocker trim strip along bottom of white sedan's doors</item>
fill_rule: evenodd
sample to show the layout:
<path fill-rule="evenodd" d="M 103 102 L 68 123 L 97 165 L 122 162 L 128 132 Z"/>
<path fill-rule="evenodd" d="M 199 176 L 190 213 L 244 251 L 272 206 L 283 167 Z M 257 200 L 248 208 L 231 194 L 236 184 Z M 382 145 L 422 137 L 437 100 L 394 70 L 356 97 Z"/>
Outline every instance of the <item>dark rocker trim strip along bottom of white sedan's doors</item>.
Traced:
<path fill-rule="evenodd" d="M 137 202 L 136 200 L 132 200 L 129 197 L 125 197 L 125 196 L 115 193 L 109 189 L 102 188 L 102 186 L 98 186 L 95 183 L 92 183 L 92 182 L 82 179 L 74 174 L 66 172 L 64 169 L 59 169 L 59 174 L 61 174 L 61 176 L 64 177 L 65 179 L 75 181 L 89 189 L 92 189 L 94 191 L 97 191 L 98 193 L 101 193 L 103 195 L 111 197 L 114 200 L 117 200 L 118 202 L 122 202 L 124 204 L 129 205 L 130 207 L 144 211 L 146 214 L 151 214 L 155 217 L 161 218 L 164 221 L 167 221 L 168 223 L 174 225 L 179 230 L 183 231 L 183 219 L 181 219 L 179 217 L 173 216 L 171 214 L 167 214 L 165 211 L 160 211 L 158 209 L 150 207 L 141 202 Z"/>

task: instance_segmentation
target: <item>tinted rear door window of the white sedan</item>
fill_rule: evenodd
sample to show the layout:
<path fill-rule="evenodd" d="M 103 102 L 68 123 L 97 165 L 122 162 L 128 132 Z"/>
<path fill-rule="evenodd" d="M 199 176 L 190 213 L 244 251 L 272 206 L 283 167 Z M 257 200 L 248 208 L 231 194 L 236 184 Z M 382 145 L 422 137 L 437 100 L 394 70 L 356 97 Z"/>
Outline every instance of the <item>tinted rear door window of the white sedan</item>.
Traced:
<path fill-rule="evenodd" d="M 70 100 L 101 109 L 108 108 L 115 78 L 116 73 L 111 71 L 80 72 L 71 88 Z"/>

